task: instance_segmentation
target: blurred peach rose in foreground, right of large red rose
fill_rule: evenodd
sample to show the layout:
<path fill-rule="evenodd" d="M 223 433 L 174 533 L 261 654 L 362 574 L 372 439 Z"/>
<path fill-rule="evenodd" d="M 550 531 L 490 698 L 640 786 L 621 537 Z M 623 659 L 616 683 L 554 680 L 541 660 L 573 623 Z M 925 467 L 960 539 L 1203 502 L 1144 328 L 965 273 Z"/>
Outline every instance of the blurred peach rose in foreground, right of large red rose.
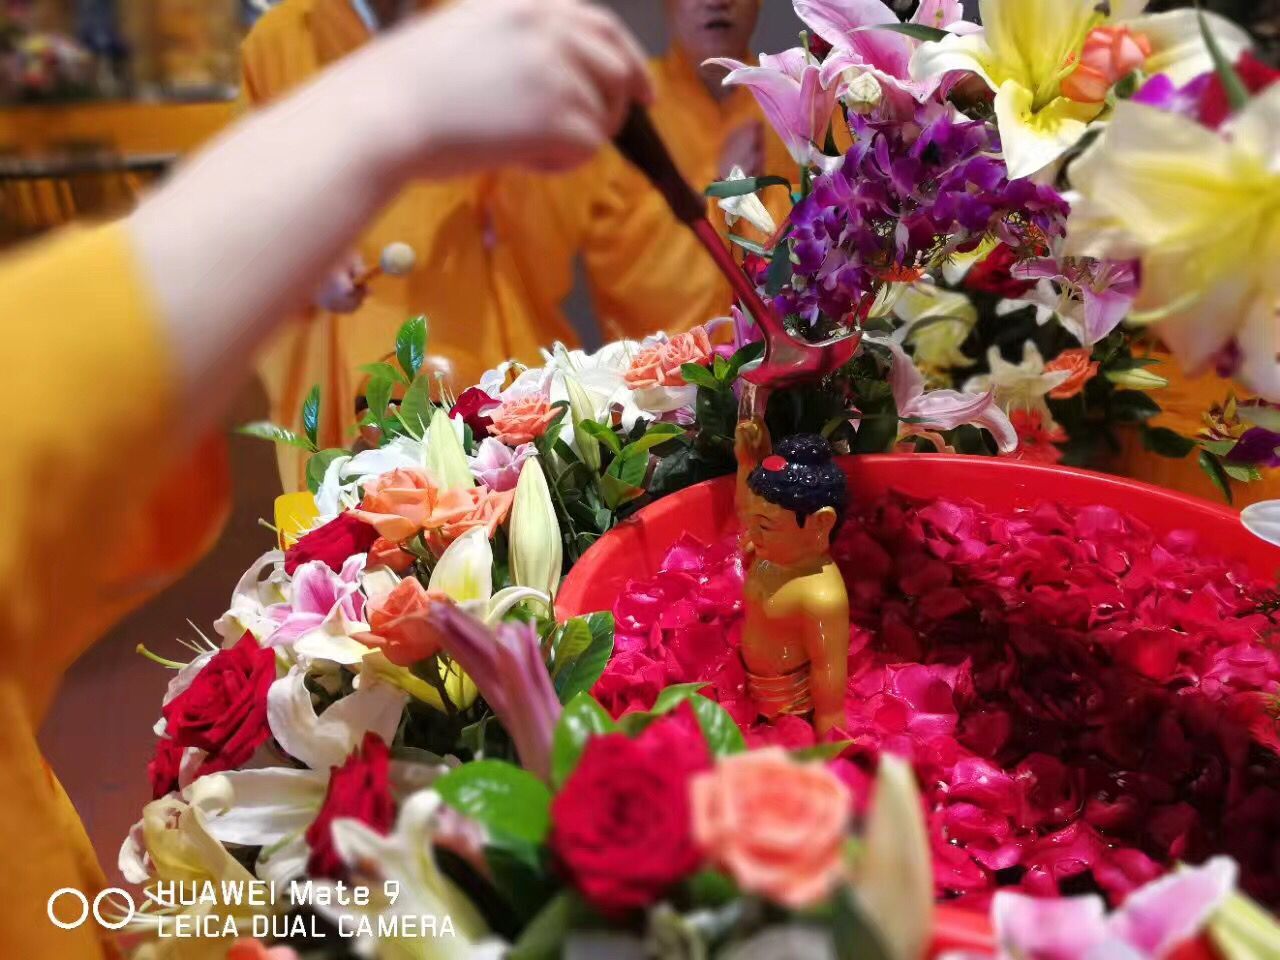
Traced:
<path fill-rule="evenodd" d="M 851 803 L 835 773 L 769 748 L 721 760 L 690 790 L 694 840 L 742 890 L 791 909 L 831 892 Z"/>

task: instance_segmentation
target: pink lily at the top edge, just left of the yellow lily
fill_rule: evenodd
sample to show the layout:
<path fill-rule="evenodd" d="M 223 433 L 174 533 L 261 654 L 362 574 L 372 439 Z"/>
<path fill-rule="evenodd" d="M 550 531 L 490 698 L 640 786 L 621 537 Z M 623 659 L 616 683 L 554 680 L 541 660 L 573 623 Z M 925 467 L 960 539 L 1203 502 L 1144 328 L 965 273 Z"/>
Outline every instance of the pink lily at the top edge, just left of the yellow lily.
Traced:
<path fill-rule="evenodd" d="M 900 109 L 910 109 L 911 101 L 923 101 L 937 90 L 938 78 L 911 79 L 918 41 L 879 29 L 899 23 L 897 14 L 881 0 L 795 0 L 795 9 L 814 33 L 831 44 L 832 51 L 822 64 L 822 83 L 836 87 L 841 96 L 847 81 L 861 73 L 876 77 Z M 964 22 L 960 0 L 925 0 L 911 23 L 957 33 L 975 28 Z"/>

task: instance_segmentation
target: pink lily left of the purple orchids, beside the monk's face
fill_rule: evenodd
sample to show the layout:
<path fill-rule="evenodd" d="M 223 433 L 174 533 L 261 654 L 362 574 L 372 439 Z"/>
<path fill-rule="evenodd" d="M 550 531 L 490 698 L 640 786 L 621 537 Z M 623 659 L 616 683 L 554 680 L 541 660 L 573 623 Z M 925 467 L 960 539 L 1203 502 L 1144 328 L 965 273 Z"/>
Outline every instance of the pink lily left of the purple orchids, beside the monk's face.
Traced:
<path fill-rule="evenodd" d="M 792 47 L 776 56 L 760 54 L 759 67 L 727 56 L 707 63 L 730 72 L 726 86 L 751 91 L 797 164 L 806 166 L 822 155 L 817 145 L 827 136 L 836 109 L 836 91 L 826 90 L 818 64 L 804 50 Z"/>

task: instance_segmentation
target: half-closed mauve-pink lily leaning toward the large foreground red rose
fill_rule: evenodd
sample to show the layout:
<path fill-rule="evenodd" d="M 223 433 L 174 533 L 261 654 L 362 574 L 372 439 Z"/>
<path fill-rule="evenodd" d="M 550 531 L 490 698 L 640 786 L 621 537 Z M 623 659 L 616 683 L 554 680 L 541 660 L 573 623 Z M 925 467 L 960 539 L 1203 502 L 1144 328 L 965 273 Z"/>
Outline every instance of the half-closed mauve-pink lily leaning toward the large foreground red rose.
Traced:
<path fill-rule="evenodd" d="M 428 616 L 444 652 L 475 681 L 516 742 L 521 764 L 549 780 L 561 701 L 547 672 L 538 631 L 531 623 L 512 622 L 490 628 L 451 603 L 434 604 Z"/>

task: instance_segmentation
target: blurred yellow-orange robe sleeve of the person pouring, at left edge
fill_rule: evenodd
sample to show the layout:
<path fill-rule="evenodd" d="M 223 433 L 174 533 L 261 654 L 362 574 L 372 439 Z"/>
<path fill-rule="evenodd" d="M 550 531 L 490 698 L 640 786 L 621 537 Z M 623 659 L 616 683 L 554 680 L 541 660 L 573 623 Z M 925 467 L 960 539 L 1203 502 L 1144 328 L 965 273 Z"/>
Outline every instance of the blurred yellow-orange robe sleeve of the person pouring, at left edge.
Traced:
<path fill-rule="evenodd" d="M 55 890 L 92 900 L 101 874 L 36 731 L 65 668 L 211 540 L 225 454 L 178 444 L 173 360 L 123 228 L 0 262 L 0 956 L 99 957 L 93 923 L 47 919 Z"/>

